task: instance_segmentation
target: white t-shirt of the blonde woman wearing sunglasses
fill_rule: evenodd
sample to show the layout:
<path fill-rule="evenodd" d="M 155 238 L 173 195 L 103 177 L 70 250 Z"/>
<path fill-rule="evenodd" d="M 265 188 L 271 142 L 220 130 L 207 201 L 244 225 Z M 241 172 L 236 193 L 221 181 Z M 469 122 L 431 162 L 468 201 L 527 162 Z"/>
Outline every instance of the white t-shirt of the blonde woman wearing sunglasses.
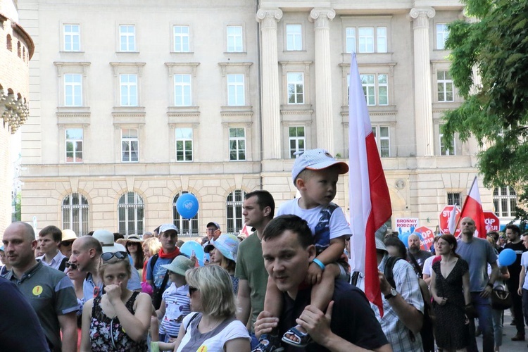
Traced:
<path fill-rule="evenodd" d="M 224 351 L 224 345 L 227 341 L 240 338 L 251 341 L 248 329 L 246 329 L 240 320 L 232 320 L 227 325 L 221 323 L 212 331 L 201 334 L 198 331 L 198 323 L 201 320 L 201 315 L 192 320 L 191 326 L 189 326 L 189 321 L 196 314 L 199 313 L 190 313 L 183 319 L 182 324 L 186 327 L 187 332 L 185 332 L 182 343 L 178 346 L 177 352 Z M 187 344 L 189 344 L 189 346 L 185 348 Z"/>

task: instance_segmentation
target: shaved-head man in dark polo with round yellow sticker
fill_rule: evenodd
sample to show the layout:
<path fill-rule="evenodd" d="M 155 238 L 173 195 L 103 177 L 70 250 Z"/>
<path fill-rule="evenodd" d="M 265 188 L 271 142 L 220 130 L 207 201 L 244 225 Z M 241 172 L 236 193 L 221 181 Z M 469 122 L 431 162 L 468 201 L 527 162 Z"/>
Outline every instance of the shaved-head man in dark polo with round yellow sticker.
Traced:
<path fill-rule="evenodd" d="M 79 306 L 70 279 L 34 258 L 37 240 L 31 225 L 13 222 L 6 228 L 2 241 L 13 267 L 6 279 L 20 289 L 37 313 L 50 350 L 76 351 L 75 314 Z"/>

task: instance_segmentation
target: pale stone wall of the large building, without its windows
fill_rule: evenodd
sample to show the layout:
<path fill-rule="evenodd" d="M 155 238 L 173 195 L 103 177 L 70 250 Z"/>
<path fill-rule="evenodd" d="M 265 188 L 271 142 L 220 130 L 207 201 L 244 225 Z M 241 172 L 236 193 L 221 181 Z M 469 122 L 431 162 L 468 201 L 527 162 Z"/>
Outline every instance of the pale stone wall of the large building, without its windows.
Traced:
<path fill-rule="evenodd" d="M 420 29 L 415 29 L 417 20 L 410 15 L 413 7 L 408 1 L 331 1 L 323 10 L 329 17 L 335 15 L 326 22 L 312 14 L 320 9 L 314 10 L 307 1 L 260 1 L 260 8 L 249 0 L 225 3 L 157 1 L 153 7 L 142 1 L 129 1 L 127 6 L 121 1 L 18 1 L 20 21 L 39 44 L 30 65 L 30 92 L 38 98 L 23 127 L 27 168 L 23 172 L 23 220 L 37 216 L 39 224 L 61 226 L 61 203 L 71 192 L 86 196 L 90 230 L 118 227 L 117 202 L 126 191 L 142 195 L 147 230 L 172 219 L 172 199 L 179 191 L 191 191 L 198 197 L 201 229 L 210 220 L 226 225 L 226 197 L 234 189 L 268 189 L 277 205 L 293 198 L 289 126 L 305 127 L 307 148 L 325 146 L 344 160 L 348 158 L 350 54 L 344 50 L 344 27 L 372 21 L 388 23 L 388 52 L 358 54 L 358 63 L 360 73 L 382 69 L 389 75 L 389 105 L 370 107 L 370 115 L 373 125 L 389 126 L 391 134 L 391 156 L 382 162 L 393 220 L 409 216 L 419 218 L 421 225 L 435 227 L 447 192 L 465 196 L 477 172 L 477 144 L 459 144 L 456 156 L 439 155 L 441 113 L 457 106 L 460 98 L 452 103 L 434 99 L 436 71 L 448 68 L 448 52 L 434 49 L 435 27 L 460 18 L 463 6 L 458 1 L 420 3 L 434 8 L 427 10 L 434 15 L 426 16 L 429 59 L 423 74 L 428 76 L 425 82 L 433 98 L 427 104 L 415 89 L 422 79 L 422 73 L 415 70 L 415 36 Z M 260 17 L 268 10 L 275 20 L 265 14 Z M 79 52 L 61 49 L 67 23 L 80 25 Z M 284 47 L 288 23 L 302 25 L 301 51 Z M 120 24 L 135 25 L 138 52 L 117 51 Z M 189 54 L 171 52 L 170 33 L 175 24 L 191 28 Z M 230 24 L 244 28 L 243 53 L 226 52 L 225 28 Z M 273 39 L 264 34 L 268 25 L 275 26 L 276 47 L 267 45 Z M 321 37 L 320 30 L 327 34 Z M 329 50 L 322 51 L 316 43 Z M 275 67 L 266 64 L 270 58 Z M 118 106 L 116 75 L 130 68 L 124 63 L 140 73 L 138 108 Z M 189 108 L 175 108 L 171 103 L 170 75 L 182 67 L 193 75 Z M 306 102 L 302 106 L 287 103 L 286 74 L 291 68 L 305 73 Z M 62 75 L 71 69 L 83 75 L 84 104 L 80 108 L 63 104 Z M 227 106 L 225 73 L 230 72 L 246 75 L 244 106 Z M 277 86 L 268 87 L 270 81 Z M 419 129 L 424 120 L 420 111 L 430 115 L 427 130 Z M 65 130 L 74 127 L 84 133 L 83 162 L 77 164 L 65 161 Z M 120 161 L 120 129 L 127 127 L 139 130 L 138 163 Z M 192 128 L 194 160 L 190 163 L 176 161 L 176 127 Z M 230 161 L 229 127 L 246 129 L 246 161 Z M 429 136 L 429 153 L 420 149 L 422 135 Z M 481 194 L 484 208 L 491 210 L 491 191 L 481 187 Z M 335 201 L 348 213 L 347 175 L 339 180 Z"/>

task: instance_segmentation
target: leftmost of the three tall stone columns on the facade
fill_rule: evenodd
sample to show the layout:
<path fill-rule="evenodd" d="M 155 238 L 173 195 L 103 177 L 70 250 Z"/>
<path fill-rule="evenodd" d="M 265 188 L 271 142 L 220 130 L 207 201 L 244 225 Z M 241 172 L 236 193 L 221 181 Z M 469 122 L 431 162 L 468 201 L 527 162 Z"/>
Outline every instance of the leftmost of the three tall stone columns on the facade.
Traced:
<path fill-rule="evenodd" d="M 281 158 L 279 59 L 277 57 L 277 22 L 282 18 L 279 8 L 260 8 L 262 42 L 262 150 L 263 160 Z"/>

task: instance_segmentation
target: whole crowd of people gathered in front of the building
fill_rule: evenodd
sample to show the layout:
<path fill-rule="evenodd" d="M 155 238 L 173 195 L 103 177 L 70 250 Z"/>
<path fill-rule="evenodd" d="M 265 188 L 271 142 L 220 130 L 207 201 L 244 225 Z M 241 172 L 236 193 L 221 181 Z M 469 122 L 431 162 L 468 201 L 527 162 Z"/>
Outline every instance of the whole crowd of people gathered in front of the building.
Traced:
<path fill-rule="evenodd" d="M 480 239 L 463 218 L 459 239 L 439 235 L 429 251 L 419 234 L 404 244 L 382 227 L 374 278 L 382 297 L 369 300 L 372 278 L 351 272 L 351 230 L 332 202 L 346 172 L 327 151 L 306 151 L 292 170 L 301 197 L 275 210 L 268 191 L 246 194 L 253 233 L 222 234 L 208 222 L 203 258 L 180 250 L 172 223 L 125 238 L 54 225 L 35 234 L 13 222 L 0 247 L 0 350 L 478 351 L 482 334 L 482 350 L 498 352 L 496 289 L 510 292 L 512 340 L 524 341 L 528 234 L 508 225 L 508 241 Z M 515 263 L 498 263 L 503 249 Z"/>

